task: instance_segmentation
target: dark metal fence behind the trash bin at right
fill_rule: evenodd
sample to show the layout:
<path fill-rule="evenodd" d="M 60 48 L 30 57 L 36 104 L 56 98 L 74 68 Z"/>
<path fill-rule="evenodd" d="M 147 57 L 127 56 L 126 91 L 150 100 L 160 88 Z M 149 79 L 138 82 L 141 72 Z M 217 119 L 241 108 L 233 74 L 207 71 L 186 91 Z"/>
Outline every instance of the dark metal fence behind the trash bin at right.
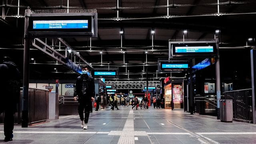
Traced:
<path fill-rule="evenodd" d="M 252 89 L 224 92 L 225 100 L 233 100 L 233 118 L 253 122 Z"/>

